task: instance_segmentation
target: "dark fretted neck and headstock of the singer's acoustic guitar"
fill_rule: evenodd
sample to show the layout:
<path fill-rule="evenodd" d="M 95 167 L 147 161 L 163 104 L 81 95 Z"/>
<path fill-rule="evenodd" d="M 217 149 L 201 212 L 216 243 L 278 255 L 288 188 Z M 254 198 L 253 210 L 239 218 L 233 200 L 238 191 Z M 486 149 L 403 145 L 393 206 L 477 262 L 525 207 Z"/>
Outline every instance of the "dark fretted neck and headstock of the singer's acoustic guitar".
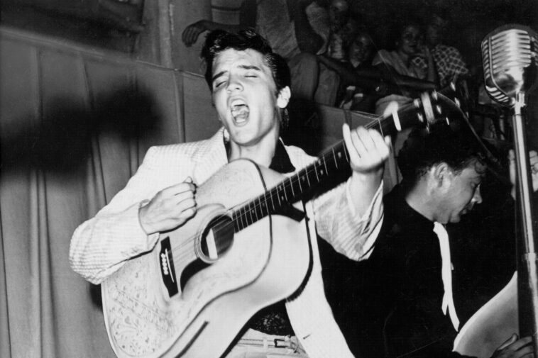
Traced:
<path fill-rule="evenodd" d="M 429 95 L 428 95 L 429 96 Z M 426 119 L 434 117 L 434 108 L 431 103 L 415 100 L 412 104 L 392 113 L 385 118 L 378 118 L 368 123 L 365 127 L 378 130 L 382 135 L 392 135 L 410 125 L 424 123 Z M 439 111 L 439 109 L 436 109 Z M 344 141 L 341 140 L 325 150 L 313 164 L 301 169 L 291 177 L 281 181 L 258 198 L 249 201 L 237 208 L 233 213 L 234 230 L 243 230 L 248 225 L 268 216 L 272 213 L 282 212 L 282 208 L 299 201 L 311 189 L 317 187 L 322 181 L 334 174 L 341 174 L 343 169 L 349 167 L 348 150 Z"/>

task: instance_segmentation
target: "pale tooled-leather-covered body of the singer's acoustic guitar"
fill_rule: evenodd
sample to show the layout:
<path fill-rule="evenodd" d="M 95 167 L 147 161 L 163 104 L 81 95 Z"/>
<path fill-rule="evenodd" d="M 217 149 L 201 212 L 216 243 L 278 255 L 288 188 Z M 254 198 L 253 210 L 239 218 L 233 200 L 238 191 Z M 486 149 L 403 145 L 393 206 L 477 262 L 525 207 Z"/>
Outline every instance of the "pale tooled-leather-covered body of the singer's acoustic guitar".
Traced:
<path fill-rule="evenodd" d="M 231 162 L 197 188 L 194 218 L 104 281 L 106 329 L 119 358 L 221 357 L 256 312 L 300 288 L 311 255 L 304 218 L 265 216 L 224 239 L 207 230 L 229 228 L 215 218 L 283 178 Z"/>

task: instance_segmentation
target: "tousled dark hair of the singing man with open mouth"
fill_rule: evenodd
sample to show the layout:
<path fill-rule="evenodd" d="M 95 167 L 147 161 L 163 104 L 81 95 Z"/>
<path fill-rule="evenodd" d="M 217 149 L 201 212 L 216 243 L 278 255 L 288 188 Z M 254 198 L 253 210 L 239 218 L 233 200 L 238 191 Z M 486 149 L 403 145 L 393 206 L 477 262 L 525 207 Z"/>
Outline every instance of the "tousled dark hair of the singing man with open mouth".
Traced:
<path fill-rule="evenodd" d="M 206 65 L 205 79 L 209 89 L 213 91 L 212 72 L 213 61 L 220 52 L 228 49 L 238 51 L 255 50 L 263 55 L 263 61 L 273 74 L 277 93 L 285 86 L 290 86 L 290 67 L 282 56 L 273 52 L 265 38 L 255 33 L 253 30 L 241 30 L 238 33 L 229 33 L 225 30 L 214 30 L 207 35 L 202 47 L 202 60 Z"/>

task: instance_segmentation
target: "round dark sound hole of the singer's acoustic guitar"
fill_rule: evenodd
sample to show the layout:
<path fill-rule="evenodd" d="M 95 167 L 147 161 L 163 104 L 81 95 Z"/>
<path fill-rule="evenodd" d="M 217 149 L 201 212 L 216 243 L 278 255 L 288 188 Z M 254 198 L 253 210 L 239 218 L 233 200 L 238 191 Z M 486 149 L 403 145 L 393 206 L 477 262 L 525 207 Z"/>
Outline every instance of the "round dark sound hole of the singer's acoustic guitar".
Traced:
<path fill-rule="evenodd" d="M 229 216 L 214 218 L 202 234 L 200 252 L 202 258 L 214 262 L 234 243 L 234 221 Z"/>

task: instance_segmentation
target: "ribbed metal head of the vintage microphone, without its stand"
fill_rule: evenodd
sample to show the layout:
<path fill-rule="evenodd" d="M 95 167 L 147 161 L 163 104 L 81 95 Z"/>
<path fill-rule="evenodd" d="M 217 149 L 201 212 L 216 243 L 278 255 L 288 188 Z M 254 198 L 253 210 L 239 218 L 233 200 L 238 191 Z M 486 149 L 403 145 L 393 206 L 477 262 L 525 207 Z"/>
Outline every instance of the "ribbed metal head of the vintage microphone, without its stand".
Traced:
<path fill-rule="evenodd" d="M 538 36 L 531 28 L 505 25 L 482 40 L 484 84 L 493 101 L 513 106 L 536 85 Z"/>

